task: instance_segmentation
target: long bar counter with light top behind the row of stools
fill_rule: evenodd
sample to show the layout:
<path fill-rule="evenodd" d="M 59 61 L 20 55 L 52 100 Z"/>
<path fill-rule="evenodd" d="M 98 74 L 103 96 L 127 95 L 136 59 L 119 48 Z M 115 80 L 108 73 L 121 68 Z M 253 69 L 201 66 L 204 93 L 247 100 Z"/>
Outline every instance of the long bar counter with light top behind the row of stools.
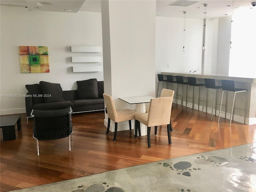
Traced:
<path fill-rule="evenodd" d="M 248 77 L 232 77 L 232 76 L 226 76 L 226 75 L 220 75 L 220 74 L 200 74 L 200 73 L 186 73 L 186 72 L 162 72 L 163 75 L 172 75 L 174 79 L 175 76 L 183 76 L 183 77 L 195 77 L 197 78 L 197 81 L 199 83 L 204 81 L 204 78 L 210 78 L 216 80 L 216 85 L 221 85 L 221 80 L 234 80 L 236 88 L 244 88 L 248 90 L 247 94 L 247 107 L 246 107 L 246 124 L 252 125 L 256 124 L 256 77 L 248 78 Z M 186 94 L 186 93 L 185 93 Z M 186 96 L 186 95 L 185 95 Z M 224 94 L 225 96 L 225 94 Z M 235 108 L 234 108 L 234 121 L 243 123 L 244 119 L 244 102 L 245 102 L 245 94 L 236 94 L 236 100 L 235 100 Z M 204 98 L 204 91 L 202 91 L 202 94 L 200 93 L 200 98 Z M 217 103 L 220 105 L 221 100 L 221 92 L 218 93 L 219 102 Z M 233 100 L 233 94 L 228 94 L 228 100 Z M 195 99 L 196 100 L 196 99 Z M 201 101 L 202 102 L 202 101 Z M 221 108 L 221 117 L 224 117 L 225 115 L 225 99 L 223 98 L 224 106 Z M 223 103 L 222 102 L 222 103 Z M 200 104 L 202 108 L 202 104 Z M 216 109 L 216 115 L 218 116 L 219 107 Z M 231 113 L 232 105 L 227 104 L 227 112 Z M 199 108 L 200 110 L 200 108 Z M 223 111 L 224 110 L 224 111 Z M 202 110 L 201 110 L 202 111 Z M 227 118 L 230 119 L 230 116 Z"/>

